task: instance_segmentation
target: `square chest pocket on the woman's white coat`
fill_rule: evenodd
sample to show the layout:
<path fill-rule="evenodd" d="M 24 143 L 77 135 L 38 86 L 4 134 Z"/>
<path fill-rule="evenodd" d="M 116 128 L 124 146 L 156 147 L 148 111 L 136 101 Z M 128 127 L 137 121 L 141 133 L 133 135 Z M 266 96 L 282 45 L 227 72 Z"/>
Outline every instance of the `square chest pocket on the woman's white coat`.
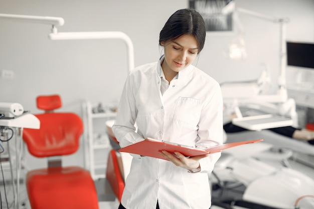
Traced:
<path fill-rule="evenodd" d="M 179 97 L 174 119 L 196 126 L 201 115 L 201 100 L 190 97 Z"/>

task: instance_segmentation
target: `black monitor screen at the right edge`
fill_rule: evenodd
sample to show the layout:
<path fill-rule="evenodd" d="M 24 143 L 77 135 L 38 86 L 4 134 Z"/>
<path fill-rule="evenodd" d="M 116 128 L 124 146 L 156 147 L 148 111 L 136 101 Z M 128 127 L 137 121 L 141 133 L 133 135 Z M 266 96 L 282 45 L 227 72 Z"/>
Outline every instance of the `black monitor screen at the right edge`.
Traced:
<path fill-rule="evenodd" d="M 286 42 L 287 65 L 314 69 L 314 43 Z"/>

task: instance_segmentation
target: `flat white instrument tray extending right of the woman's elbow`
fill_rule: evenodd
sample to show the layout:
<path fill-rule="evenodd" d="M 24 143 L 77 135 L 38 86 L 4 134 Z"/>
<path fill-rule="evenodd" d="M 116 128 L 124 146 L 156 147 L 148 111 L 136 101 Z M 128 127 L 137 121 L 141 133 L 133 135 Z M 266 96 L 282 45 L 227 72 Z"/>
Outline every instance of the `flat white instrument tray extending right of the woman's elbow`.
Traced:
<path fill-rule="evenodd" d="M 248 130 L 259 131 L 262 129 L 291 126 L 293 121 L 291 118 L 273 114 L 265 114 L 234 118 L 232 119 L 232 123 Z"/>

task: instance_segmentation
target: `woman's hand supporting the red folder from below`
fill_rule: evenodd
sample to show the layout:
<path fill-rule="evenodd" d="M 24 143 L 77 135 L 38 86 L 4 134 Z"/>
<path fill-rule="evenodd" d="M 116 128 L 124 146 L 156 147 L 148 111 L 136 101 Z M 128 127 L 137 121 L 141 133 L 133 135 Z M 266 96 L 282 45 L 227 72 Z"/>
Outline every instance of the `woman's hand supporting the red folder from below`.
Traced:
<path fill-rule="evenodd" d="M 188 170 L 199 168 L 199 160 L 208 156 L 208 154 L 203 154 L 194 157 L 186 157 L 180 152 L 175 152 L 174 154 L 172 154 L 165 150 L 159 151 L 159 154 L 169 161 L 173 162 L 175 165 L 186 168 Z"/>

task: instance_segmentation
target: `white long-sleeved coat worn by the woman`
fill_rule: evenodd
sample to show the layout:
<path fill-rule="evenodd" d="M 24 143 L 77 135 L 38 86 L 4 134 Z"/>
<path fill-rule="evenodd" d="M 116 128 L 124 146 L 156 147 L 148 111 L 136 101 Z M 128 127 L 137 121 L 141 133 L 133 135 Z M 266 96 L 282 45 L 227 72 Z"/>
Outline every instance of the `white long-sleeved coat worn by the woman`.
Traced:
<path fill-rule="evenodd" d="M 146 137 L 197 148 L 222 144 L 222 95 L 219 84 L 190 65 L 169 88 L 159 62 L 132 70 L 125 82 L 112 129 L 121 147 Z M 164 92 L 162 94 L 162 91 Z M 136 128 L 134 124 L 136 123 Z M 127 209 L 208 209 L 208 173 L 220 153 L 200 160 L 201 172 L 190 173 L 172 162 L 132 154 L 121 203 Z"/>

